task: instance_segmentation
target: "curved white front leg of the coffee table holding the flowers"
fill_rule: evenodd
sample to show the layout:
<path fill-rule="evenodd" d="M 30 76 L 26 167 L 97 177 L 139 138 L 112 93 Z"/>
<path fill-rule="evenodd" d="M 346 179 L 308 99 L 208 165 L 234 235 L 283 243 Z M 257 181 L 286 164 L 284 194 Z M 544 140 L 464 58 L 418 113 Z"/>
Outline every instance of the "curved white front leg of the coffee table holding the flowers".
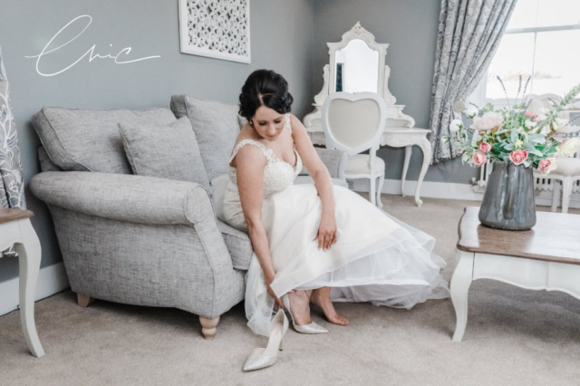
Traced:
<path fill-rule="evenodd" d="M 473 281 L 473 253 L 457 251 L 457 266 L 451 278 L 451 301 L 457 315 L 453 342 L 461 342 L 468 323 L 468 293 Z"/>

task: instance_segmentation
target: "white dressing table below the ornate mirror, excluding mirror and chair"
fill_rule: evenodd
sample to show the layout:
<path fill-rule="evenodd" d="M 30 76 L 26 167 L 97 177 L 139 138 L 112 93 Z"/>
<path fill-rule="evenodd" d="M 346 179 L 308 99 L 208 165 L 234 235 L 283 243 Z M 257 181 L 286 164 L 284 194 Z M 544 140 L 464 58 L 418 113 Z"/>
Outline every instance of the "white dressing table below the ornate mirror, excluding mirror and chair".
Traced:
<path fill-rule="evenodd" d="M 314 145 L 325 145 L 324 131 L 322 126 L 312 126 L 306 129 L 310 135 L 310 140 Z M 401 194 L 405 196 L 405 180 L 407 179 L 407 171 L 409 170 L 409 163 L 411 162 L 411 153 L 413 146 L 419 146 L 423 152 L 423 162 L 420 168 L 419 179 L 417 180 L 417 187 L 415 188 L 415 202 L 420 207 L 423 201 L 420 200 L 420 186 L 425 178 L 425 173 L 429 169 L 429 163 L 432 155 L 431 144 L 427 139 L 430 130 L 408 128 L 408 127 L 386 127 L 381 136 L 381 146 L 391 146 L 393 148 L 405 148 L 405 162 L 402 167 L 401 178 Z"/>

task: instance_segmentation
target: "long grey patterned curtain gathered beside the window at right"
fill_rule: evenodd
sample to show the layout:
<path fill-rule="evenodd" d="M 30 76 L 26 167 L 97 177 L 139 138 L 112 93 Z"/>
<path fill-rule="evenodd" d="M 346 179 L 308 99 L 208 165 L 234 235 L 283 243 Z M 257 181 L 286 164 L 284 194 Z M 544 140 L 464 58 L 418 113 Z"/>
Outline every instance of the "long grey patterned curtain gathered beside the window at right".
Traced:
<path fill-rule="evenodd" d="M 441 0 L 431 93 L 431 163 L 456 156 L 442 139 L 488 69 L 516 1 Z"/>

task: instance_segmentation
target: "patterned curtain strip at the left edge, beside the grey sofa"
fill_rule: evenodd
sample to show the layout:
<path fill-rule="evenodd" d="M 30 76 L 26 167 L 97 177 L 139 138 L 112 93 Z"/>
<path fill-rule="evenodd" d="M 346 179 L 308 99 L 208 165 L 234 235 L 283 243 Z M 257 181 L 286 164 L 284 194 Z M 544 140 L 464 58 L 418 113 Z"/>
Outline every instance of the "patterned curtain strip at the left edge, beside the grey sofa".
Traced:
<path fill-rule="evenodd" d="M 10 89 L 0 47 L 0 207 L 24 209 L 24 181 Z M 0 252 L 0 256 L 1 252 Z"/>

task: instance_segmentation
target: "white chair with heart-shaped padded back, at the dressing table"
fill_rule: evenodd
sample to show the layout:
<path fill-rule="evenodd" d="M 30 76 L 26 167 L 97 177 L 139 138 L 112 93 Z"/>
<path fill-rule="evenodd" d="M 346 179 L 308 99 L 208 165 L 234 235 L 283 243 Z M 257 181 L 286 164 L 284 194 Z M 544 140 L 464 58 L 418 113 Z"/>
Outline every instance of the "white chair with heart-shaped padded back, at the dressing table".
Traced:
<path fill-rule="evenodd" d="M 374 92 L 334 92 L 326 98 L 322 109 L 326 148 L 347 153 L 345 179 L 370 179 L 369 197 L 372 205 L 378 207 L 382 207 L 385 165 L 376 152 L 386 120 L 385 101 Z M 359 154 L 364 150 L 369 150 L 369 154 Z"/>

